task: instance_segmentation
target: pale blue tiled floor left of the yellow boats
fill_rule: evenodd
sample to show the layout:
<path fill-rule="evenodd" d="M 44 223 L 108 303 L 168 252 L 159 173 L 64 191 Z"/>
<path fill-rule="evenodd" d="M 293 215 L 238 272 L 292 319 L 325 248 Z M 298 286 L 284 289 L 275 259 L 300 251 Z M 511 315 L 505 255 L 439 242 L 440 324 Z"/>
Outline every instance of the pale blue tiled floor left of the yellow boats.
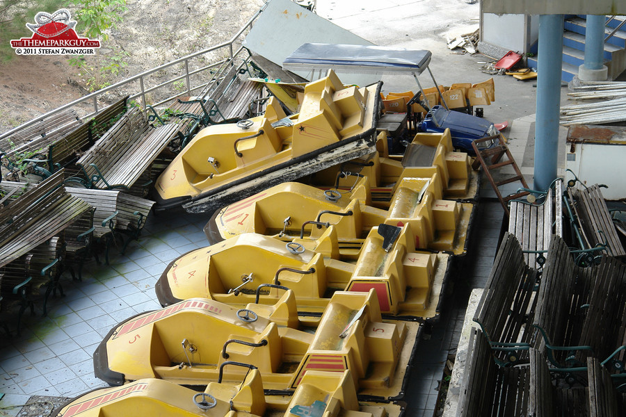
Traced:
<path fill-rule="evenodd" d="M 152 216 L 127 256 L 90 262 L 83 281 L 64 277 L 65 297 L 51 297 L 47 317 L 24 314 L 22 334 L 0 341 L 0 415 L 15 416 L 31 395 L 73 397 L 106 384 L 93 375 L 92 355 L 118 322 L 160 308 L 154 283 L 180 254 L 207 245 L 207 216 Z M 113 253 L 116 251 L 113 250 Z"/>

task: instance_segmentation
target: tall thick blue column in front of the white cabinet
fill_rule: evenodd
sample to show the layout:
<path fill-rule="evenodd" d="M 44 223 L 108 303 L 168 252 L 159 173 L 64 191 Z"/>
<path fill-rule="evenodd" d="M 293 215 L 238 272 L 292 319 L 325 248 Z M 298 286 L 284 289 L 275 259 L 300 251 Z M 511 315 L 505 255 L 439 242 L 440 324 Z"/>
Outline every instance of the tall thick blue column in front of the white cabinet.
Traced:
<path fill-rule="evenodd" d="M 539 16 L 538 57 L 533 188 L 547 190 L 556 178 L 559 153 L 563 15 Z"/>

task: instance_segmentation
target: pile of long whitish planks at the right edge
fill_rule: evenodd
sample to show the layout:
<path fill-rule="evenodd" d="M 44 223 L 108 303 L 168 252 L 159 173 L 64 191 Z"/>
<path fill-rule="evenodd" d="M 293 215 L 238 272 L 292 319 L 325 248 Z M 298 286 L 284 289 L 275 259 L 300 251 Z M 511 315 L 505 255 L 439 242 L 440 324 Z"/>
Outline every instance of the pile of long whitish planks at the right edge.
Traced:
<path fill-rule="evenodd" d="M 561 124 L 604 124 L 626 121 L 626 83 L 584 82 L 571 85 L 572 99 L 594 100 L 590 104 L 561 107 Z"/>

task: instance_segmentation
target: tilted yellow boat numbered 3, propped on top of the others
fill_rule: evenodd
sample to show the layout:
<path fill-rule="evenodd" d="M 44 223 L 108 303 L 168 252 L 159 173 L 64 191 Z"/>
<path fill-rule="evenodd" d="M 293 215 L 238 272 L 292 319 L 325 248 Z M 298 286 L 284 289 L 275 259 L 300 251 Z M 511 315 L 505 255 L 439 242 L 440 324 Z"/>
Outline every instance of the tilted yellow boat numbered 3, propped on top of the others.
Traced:
<path fill-rule="evenodd" d="M 371 152 L 381 83 L 344 88 L 334 72 L 305 87 L 300 113 L 271 98 L 263 116 L 202 129 L 159 176 L 157 210 L 212 211 Z"/>

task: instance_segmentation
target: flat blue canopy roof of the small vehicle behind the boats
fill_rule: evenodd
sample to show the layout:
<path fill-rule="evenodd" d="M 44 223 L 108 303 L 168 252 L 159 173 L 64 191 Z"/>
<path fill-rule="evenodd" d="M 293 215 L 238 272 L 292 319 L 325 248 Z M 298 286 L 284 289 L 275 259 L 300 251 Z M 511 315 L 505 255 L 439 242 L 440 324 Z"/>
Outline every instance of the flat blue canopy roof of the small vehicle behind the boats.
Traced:
<path fill-rule="evenodd" d="M 349 44 L 305 43 L 284 58 L 283 70 L 339 72 L 411 72 L 422 74 L 431 62 L 431 51 Z"/>

